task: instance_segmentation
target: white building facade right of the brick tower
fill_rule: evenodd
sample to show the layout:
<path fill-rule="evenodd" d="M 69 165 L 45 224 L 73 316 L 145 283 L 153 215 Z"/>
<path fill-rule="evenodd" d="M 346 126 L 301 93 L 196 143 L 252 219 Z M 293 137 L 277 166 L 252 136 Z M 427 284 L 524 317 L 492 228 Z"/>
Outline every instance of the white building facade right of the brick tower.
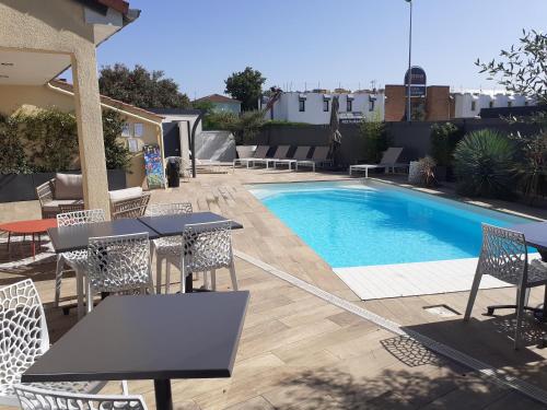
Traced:
<path fill-rule="evenodd" d="M 482 108 L 510 108 L 534 106 L 536 102 L 524 95 L 509 93 L 464 92 L 453 93 L 454 118 L 475 118 Z"/>

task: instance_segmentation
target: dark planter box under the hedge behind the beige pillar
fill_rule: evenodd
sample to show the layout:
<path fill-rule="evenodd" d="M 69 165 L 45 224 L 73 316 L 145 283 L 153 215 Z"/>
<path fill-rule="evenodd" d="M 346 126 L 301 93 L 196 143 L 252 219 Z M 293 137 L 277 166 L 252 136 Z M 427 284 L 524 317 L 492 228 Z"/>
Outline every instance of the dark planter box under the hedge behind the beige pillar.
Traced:
<path fill-rule="evenodd" d="M 36 197 L 36 187 L 55 178 L 56 173 L 0 174 L 0 202 L 32 201 Z M 66 174 L 81 174 L 80 171 L 67 171 Z M 126 172 L 108 169 L 108 190 L 124 189 Z"/>

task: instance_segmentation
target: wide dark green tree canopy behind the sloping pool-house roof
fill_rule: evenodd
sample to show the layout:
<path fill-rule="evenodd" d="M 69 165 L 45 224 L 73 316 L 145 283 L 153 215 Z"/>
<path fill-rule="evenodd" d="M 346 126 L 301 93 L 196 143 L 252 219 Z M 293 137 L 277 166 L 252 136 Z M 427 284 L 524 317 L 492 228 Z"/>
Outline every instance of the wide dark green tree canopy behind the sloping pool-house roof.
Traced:
<path fill-rule="evenodd" d="M 190 102 L 178 91 L 173 79 L 161 70 L 148 71 L 136 65 L 131 70 L 123 63 L 101 68 L 101 94 L 141 108 L 188 108 Z"/>

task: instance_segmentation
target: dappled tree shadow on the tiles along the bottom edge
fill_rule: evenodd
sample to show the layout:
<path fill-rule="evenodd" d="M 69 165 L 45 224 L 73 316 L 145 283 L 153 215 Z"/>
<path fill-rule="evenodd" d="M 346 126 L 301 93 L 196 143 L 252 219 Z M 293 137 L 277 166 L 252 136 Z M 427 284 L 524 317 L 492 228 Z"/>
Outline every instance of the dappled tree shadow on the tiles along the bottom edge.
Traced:
<path fill-rule="evenodd" d="M 445 363 L 443 370 L 386 368 L 365 377 L 357 377 L 353 372 L 337 366 L 303 371 L 281 380 L 279 391 L 282 394 L 276 395 L 276 408 L 380 410 L 465 406 L 482 409 L 508 395 L 508 389 L 450 363 Z M 462 400 L 466 405 L 462 406 Z M 519 403 L 523 409 L 542 408 L 524 396 L 519 397 Z"/>

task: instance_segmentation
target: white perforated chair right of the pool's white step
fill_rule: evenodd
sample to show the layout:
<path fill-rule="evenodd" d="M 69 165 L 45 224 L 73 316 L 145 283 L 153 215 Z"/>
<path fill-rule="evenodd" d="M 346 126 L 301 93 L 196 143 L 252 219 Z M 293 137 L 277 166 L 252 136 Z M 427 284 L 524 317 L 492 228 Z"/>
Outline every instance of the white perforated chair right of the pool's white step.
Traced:
<path fill-rule="evenodd" d="M 472 315 L 482 274 L 516 285 L 516 304 L 488 306 L 488 315 L 493 315 L 497 308 L 516 309 L 514 348 L 519 349 L 524 311 L 534 309 L 526 306 L 529 289 L 547 284 L 547 268 L 540 263 L 528 263 L 526 239 L 522 233 L 484 223 L 482 247 L 465 309 L 465 321 Z"/>

